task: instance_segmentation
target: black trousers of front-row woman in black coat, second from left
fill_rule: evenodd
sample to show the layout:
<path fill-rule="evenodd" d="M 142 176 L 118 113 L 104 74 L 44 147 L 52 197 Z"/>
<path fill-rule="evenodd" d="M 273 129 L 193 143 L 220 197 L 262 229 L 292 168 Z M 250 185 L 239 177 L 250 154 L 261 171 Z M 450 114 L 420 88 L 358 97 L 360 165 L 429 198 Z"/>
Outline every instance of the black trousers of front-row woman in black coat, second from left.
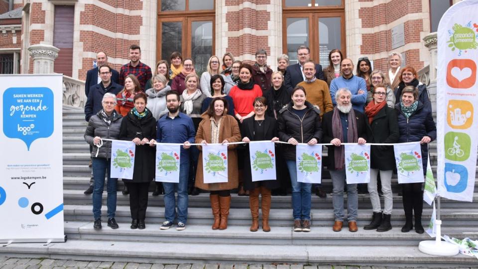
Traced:
<path fill-rule="evenodd" d="M 150 182 L 125 182 L 129 189 L 129 210 L 131 211 L 131 219 L 144 220 L 146 217 L 149 183 Z"/>

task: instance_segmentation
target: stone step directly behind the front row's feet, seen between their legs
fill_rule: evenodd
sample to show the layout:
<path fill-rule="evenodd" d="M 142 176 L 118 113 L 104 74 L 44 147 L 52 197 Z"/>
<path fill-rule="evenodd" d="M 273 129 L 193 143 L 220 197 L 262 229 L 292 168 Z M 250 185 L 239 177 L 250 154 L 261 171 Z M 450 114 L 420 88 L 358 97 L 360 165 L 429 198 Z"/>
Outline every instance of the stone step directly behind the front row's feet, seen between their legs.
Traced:
<path fill-rule="evenodd" d="M 233 202 L 235 199 L 233 198 Z M 105 205 L 105 202 L 103 203 Z M 154 206 L 148 203 L 149 207 L 146 211 L 146 223 L 160 224 L 164 221 L 164 207 Z M 93 207 L 91 205 L 71 205 L 65 204 L 64 215 L 65 221 L 92 221 Z M 106 206 L 102 207 L 104 219 L 106 221 Z M 428 226 L 432 215 L 432 208 L 425 207 L 423 210 L 422 223 Z M 370 223 L 372 212 L 370 209 L 362 209 L 359 207 L 357 223 L 359 227 L 363 227 Z M 129 206 L 117 206 L 116 217 L 118 222 L 131 222 L 131 214 Z M 250 225 L 250 210 L 248 208 L 231 208 L 229 215 L 229 224 L 231 225 Z M 441 219 L 443 227 L 463 227 L 463 223 L 467 223 L 466 227 L 477 231 L 478 229 L 478 209 L 443 209 L 441 210 Z M 212 211 L 210 207 L 189 207 L 188 208 L 188 224 L 190 225 L 212 225 Z M 291 209 L 270 210 L 269 222 L 271 226 L 291 226 L 293 224 Z M 317 209 L 312 207 L 311 223 L 313 226 L 331 227 L 334 224 L 334 212 L 332 204 L 328 209 Z M 391 223 L 395 227 L 400 227 L 405 223 L 405 215 L 403 210 L 397 209 L 392 213 Z M 478 235 L 475 235 L 476 238 Z"/>

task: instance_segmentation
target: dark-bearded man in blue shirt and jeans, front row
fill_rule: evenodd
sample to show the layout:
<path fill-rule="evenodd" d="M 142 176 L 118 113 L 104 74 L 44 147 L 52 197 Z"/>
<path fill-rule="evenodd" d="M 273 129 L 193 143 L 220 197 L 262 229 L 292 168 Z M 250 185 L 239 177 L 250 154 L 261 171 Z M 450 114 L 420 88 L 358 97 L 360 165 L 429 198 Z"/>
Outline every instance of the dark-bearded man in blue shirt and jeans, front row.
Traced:
<path fill-rule="evenodd" d="M 176 216 L 174 189 L 178 192 L 178 225 L 176 230 L 186 229 L 188 217 L 188 173 L 189 148 L 194 142 L 196 131 L 193 120 L 179 112 L 179 94 L 170 91 L 166 94 L 168 114 L 161 117 L 156 124 L 156 139 L 161 143 L 183 143 L 180 153 L 179 183 L 163 182 L 164 187 L 164 217 L 166 221 L 161 230 L 167 230 L 173 225 Z M 160 145 L 158 145 L 160 146 Z"/>

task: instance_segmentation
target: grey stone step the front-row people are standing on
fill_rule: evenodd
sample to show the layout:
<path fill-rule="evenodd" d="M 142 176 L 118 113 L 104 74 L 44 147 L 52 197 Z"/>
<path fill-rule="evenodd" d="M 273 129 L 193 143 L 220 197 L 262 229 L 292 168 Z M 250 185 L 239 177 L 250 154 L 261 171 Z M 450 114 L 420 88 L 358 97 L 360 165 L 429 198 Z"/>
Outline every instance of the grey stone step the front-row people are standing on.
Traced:
<path fill-rule="evenodd" d="M 175 226 L 160 230 L 161 224 L 146 223 L 144 230 L 131 230 L 130 222 L 118 223 L 119 229 L 111 229 L 103 221 L 103 229 L 96 231 L 91 222 L 65 222 L 65 234 L 68 239 L 157 242 L 157 243 L 215 243 L 215 244 L 250 244 L 250 245 L 343 245 L 343 246 L 418 246 L 420 241 L 430 240 L 427 233 L 415 231 L 402 233 L 400 227 L 378 233 L 375 230 L 349 232 L 347 226 L 341 232 L 333 232 L 331 227 L 311 227 L 308 233 L 293 232 L 292 227 L 271 227 L 270 232 L 263 232 L 261 226 L 257 232 L 250 232 L 249 226 L 229 226 L 226 230 L 213 231 L 210 225 L 187 225 L 186 230 L 176 231 Z M 474 228 L 444 227 L 442 233 L 450 237 L 463 238 L 473 233 Z M 475 235 L 476 238 L 476 235 Z"/>

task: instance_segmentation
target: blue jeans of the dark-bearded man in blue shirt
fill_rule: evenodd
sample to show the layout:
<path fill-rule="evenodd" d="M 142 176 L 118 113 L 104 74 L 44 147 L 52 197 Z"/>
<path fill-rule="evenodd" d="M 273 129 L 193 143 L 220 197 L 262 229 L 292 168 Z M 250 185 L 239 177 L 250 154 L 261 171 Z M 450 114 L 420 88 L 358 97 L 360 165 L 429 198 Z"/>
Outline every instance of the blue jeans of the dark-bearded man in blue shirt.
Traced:
<path fill-rule="evenodd" d="M 188 174 L 189 162 L 179 165 L 179 183 L 163 182 L 164 188 L 164 218 L 174 222 L 176 217 L 176 201 L 174 192 L 178 192 L 178 222 L 186 224 L 188 219 Z"/>

